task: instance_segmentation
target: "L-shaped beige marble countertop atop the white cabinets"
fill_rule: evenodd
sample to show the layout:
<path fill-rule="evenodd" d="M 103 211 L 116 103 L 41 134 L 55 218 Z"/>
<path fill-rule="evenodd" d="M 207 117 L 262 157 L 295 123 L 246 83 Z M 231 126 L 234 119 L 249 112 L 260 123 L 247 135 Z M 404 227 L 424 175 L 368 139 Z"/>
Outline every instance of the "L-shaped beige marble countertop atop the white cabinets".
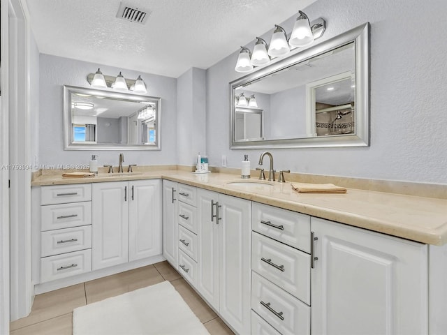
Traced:
<path fill-rule="evenodd" d="M 168 179 L 233 195 L 238 198 L 270 204 L 303 214 L 383 232 L 412 241 L 437 246 L 447 243 L 447 200 L 424 198 L 348 188 L 347 193 L 298 193 L 291 183 L 272 182 L 272 186 L 235 186 L 228 181 L 247 181 L 237 174 L 193 174 L 182 170 L 135 171 L 96 177 L 62 178 L 61 174 L 41 174 L 31 186 L 83 184 L 136 179 Z M 249 182 L 258 181 L 256 178 Z"/>

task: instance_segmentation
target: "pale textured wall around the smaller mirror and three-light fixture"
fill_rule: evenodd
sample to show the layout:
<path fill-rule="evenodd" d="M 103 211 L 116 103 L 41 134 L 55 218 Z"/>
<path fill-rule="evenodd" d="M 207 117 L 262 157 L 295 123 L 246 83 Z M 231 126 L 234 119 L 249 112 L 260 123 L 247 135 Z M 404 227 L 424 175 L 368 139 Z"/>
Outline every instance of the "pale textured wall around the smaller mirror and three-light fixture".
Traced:
<path fill-rule="evenodd" d="M 40 57 L 40 126 L 39 164 L 88 164 L 92 154 L 98 155 L 99 165 L 118 165 L 119 152 L 126 164 L 161 165 L 177 163 L 177 80 L 161 75 L 138 73 L 133 70 L 103 66 L 86 61 L 41 54 Z M 63 85 L 90 87 L 87 75 L 98 68 L 105 75 L 136 78 L 141 75 L 147 85 L 147 96 L 161 97 L 161 151 L 71 151 L 63 142 Z M 108 89 L 110 90 L 110 89 Z"/>

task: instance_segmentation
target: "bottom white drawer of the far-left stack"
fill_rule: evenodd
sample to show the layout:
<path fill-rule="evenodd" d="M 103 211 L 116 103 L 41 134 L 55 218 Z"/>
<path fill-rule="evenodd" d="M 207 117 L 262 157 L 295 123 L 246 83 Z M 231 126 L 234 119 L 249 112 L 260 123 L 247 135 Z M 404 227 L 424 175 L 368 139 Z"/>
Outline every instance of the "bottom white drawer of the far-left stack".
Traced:
<path fill-rule="evenodd" d="M 91 249 L 41 258 L 41 283 L 91 271 Z"/>

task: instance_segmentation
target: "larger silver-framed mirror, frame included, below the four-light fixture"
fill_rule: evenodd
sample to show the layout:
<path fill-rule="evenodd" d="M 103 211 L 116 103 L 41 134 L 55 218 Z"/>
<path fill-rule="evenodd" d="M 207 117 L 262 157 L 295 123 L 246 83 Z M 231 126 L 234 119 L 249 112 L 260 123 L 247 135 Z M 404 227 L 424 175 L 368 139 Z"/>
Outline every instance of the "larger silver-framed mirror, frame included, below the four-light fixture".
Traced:
<path fill-rule="evenodd" d="M 369 23 L 230 82 L 230 106 L 231 149 L 368 146 Z"/>

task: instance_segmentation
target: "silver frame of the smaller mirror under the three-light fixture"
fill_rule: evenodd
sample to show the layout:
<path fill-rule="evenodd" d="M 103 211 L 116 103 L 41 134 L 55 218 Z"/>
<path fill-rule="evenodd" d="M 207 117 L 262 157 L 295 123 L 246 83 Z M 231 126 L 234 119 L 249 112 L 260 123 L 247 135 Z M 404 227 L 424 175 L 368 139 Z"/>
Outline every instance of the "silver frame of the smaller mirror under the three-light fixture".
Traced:
<path fill-rule="evenodd" d="M 125 99 L 135 102 L 147 101 L 156 104 L 155 144 L 113 144 L 113 143 L 73 143 L 71 141 L 71 94 L 88 94 L 103 98 Z M 161 150 L 161 98 L 154 96 L 139 96 L 137 94 L 116 91 L 102 91 L 85 87 L 64 85 L 64 150 Z"/>

